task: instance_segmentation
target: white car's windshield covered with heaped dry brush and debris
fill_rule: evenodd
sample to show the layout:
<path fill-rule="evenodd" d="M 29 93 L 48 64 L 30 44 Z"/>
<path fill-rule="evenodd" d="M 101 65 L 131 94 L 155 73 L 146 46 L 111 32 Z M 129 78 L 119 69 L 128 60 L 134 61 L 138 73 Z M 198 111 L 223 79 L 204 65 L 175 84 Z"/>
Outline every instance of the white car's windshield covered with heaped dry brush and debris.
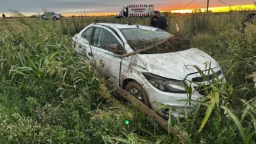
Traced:
<path fill-rule="evenodd" d="M 148 46 L 156 45 L 160 41 L 169 38 L 167 39 L 166 43 L 158 45 L 151 50 L 147 50 L 146 52 L 140 52 L 140 54 L 161 54 L 167 52 L 177 52 L 190 48 L 189 41 L 184 41 L 184 39 L 173 37 L 173 35 L 161 29 L 156 29 L 154 31 L 141 29 L 138 27 L 120 29 L 120 31 L 123 33 L 127 43 L 135 51 L 141 50 Z"/>

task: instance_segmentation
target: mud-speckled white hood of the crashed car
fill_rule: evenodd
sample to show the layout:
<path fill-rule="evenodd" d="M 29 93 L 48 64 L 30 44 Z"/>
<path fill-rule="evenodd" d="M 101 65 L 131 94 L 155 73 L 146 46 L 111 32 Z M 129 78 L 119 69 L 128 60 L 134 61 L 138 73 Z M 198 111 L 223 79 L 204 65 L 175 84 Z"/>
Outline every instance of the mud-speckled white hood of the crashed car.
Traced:
<path fill-rule="evenodd" d="M 190 73 L 198 72 L 193 65 L 205 70 L 205 62 L 211 62 L 211 68 L 219 67 L 211 56 L 197 48 L 165 54 L 139 54 L 140 61 L 149 73 L 169 79 L 184 80 Z"/>

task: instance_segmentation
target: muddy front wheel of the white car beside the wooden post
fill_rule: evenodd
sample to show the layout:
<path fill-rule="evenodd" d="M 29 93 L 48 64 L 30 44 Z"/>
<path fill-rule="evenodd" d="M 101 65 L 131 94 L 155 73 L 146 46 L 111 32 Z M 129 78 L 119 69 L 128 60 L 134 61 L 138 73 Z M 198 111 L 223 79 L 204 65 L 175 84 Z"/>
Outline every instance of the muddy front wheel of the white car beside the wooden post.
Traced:
<path fill-rule="evenodd" d="M 131 81 L 125 86 L 125 90 L 129 92 L 131 95 L 135 96 L 135 98 L 139 99 L 144 105 L 150 107 L 150 102 L 148 100 L 148 95 L 145 90 L 140 86 L 138 82 Z"/>

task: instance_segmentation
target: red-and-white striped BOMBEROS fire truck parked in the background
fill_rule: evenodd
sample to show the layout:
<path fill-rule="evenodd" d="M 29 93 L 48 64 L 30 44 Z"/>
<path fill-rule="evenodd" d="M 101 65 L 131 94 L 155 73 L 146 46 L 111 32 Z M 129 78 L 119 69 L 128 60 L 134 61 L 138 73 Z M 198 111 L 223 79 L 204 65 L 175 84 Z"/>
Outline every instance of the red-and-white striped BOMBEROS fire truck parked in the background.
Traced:
<path fill-rule="evenodd" d="M 142 18 L 152 16 L 154 14 L 154 5 L 127 5 L 121 8 L 121 11 L 115 18 Z"/>

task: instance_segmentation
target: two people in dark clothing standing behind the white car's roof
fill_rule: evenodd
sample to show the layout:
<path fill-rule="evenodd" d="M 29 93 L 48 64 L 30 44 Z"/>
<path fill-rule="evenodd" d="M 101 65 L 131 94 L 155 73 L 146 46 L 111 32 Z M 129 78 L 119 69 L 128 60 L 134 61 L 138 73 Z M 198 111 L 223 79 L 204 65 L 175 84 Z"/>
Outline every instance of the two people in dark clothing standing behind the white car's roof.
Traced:
<path fill-rule="evenodd" d="M 151 18 L 150 26 L 165 30 L 168 27 L 168 23 L 165 17 L 161 16 L 159 11 L 156 11 L 154 16 Z"/>

